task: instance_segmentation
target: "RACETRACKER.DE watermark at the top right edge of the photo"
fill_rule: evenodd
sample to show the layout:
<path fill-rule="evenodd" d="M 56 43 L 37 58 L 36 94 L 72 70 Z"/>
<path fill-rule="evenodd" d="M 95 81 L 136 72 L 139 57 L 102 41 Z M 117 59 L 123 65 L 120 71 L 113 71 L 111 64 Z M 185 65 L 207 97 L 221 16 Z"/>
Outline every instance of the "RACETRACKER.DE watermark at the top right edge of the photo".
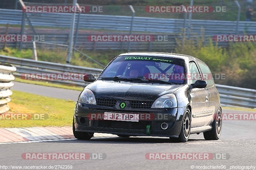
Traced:
<path fill-rule="evenodd" d="M 193 13 L 209 13 L 209 12 L 226 12 L 226 6 L 146 6 L 146 12 L 193 12 Z"/>

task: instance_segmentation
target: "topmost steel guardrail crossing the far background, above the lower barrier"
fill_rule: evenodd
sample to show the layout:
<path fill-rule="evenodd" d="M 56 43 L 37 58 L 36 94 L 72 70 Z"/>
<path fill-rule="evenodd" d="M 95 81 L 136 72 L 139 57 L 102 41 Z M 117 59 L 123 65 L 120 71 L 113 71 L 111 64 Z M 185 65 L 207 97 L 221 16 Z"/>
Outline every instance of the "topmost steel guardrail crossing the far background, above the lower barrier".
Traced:
<path fill-rule="evenodd" d="M 0 24 L 21 24 L 22 11 L 0 9 Z M 32 26 L 48 27 L 70 27 L 70 13 L 27 13 Z M 77 22 L 77 16 L 76 16 Z M 235 34 L 236 21 L 220 20 L 197 20 L 192 19 L 191 33 L 201 33 L 204 28 L 205 35 L 212 34 Z M 151 32 L 151 33 L 180 33 L 184 25 L 184 19 L 173 18 L 149 18 L 134 17 L 133 31 Z M 131 17 L 115 15 L 95 15 L 81 14 L 79 28 L 128 31 L 131 26 Z M 186 26 L 187 27 L 187 26 Z M 240 21 L 239 33 L 244 31 L 254 32 L 256 22 Z"/>

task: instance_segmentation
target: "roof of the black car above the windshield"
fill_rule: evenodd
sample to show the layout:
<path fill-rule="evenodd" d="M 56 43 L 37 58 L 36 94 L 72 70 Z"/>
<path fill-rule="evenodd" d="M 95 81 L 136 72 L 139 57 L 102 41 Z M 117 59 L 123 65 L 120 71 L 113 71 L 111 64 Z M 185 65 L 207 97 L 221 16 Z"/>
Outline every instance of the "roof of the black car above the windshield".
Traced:
<path fill-rule="evenodd" d="M 196 57 L 185 55 L 185 54 L 176 54 L 176 53 L 160 53 L 160 52 L 130 52 L 130 53 L 123 53 L 118 56 L 123 55 L 149 55 L 149 56 L 161 56 L 161 57 L 174 57 L 174 58 L 180 58 L 185 60 L 185 58 L 188 58 L 188 60 L 198 60 Z"/>

